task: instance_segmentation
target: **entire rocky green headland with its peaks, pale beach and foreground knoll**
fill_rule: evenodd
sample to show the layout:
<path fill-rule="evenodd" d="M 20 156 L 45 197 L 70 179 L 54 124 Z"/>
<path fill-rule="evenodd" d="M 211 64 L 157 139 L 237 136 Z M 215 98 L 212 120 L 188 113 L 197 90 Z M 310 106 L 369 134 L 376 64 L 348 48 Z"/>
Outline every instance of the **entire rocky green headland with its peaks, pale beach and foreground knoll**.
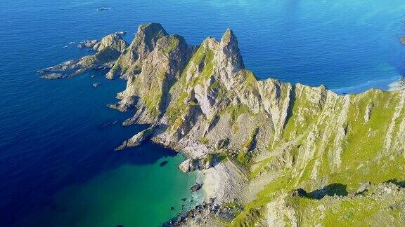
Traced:
<path fill-rule="evenodd" d="M 150 124 L 145 139 L 184 153 L 202 205 L 165 226 L 404 225 L 405 91 L 337 95 L 245 69 L 231 29 L 191 46 L 160 24 L 117 34 L 94 55 L 39 71 L 68 78 L 110 69 L 127 88 L 109 107 Z"/>

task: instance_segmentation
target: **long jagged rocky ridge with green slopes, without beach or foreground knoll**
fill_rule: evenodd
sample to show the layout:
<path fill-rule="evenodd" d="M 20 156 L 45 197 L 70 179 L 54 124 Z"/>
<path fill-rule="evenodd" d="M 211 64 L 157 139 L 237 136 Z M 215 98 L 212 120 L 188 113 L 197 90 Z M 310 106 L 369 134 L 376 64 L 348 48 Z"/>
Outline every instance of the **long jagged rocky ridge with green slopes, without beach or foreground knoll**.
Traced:
<path fill-rule="evenodd" d="M 235 225 L 272 219 L 266 207 L 279 191 L 342 184 L 355 192 L 364 179 L 403 179 L 404 91 L 337 95 L 323 85 L 258 81 L 245 69 L 231 29 L 200 46 L 188 45 L 155 23 L 141 25 L 129 46 L 119 36 L 107 37 L 95 55 L 40 73 L 64 78 L 107 67 L 108 78 L 127 79 L 117 94 L 120 102 L 110 108 L 134 111 L 124 125 L 155 126 L 124 142 L 122 149 L 148 137 L 190 156 L 181 165 L 185 172 L 205 169 L 199 157 L 207 153 L 227 154 L 249 181 L 240 195 L 247 194 L 242 198 L 246 206 L 232 221 Z M 224 188 L 224 193 L 233 190 Z"/>

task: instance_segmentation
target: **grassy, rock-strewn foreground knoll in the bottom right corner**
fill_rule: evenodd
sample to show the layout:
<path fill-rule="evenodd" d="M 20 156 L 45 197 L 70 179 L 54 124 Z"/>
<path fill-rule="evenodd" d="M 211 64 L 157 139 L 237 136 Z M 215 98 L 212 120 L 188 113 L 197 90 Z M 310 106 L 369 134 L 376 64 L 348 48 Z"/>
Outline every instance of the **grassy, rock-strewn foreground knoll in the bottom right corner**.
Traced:
<path fill-rule="evenodd" d="M 402 226 L 404 189 L 393 184 L 372 186 L 361 195 L 326 195 L 321 199 L 287 196 L 288 206 L 300 216 L 300 225 Z"/>

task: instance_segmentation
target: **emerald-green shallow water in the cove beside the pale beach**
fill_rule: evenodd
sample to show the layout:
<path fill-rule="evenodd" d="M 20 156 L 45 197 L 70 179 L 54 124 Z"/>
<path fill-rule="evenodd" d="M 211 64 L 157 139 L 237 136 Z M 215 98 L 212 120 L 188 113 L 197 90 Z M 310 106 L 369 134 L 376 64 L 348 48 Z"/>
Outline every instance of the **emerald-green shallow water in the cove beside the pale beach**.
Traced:
<path fill-rule="evenodd" d="M 138 150 L 150 152 L 146 147 Z M 165 160 L 169 161 L 162 167 L 121 165 L 84 184 L 63 188 L 46 209 L 17 226 L 161 226 L 201 200 L 198 193 L 184 190 L 195 184 L 194 174 L 176 173 L 183 158 L 159 162 Z"/>

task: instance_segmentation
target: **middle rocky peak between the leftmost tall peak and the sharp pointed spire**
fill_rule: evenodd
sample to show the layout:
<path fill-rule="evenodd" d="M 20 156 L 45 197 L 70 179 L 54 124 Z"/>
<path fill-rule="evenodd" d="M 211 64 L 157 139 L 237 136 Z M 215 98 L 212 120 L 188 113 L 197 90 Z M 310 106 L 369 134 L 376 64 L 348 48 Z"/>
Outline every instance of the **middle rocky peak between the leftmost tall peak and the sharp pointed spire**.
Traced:
<path fill-rule="evenodd" d="M 122 100 L 115 108 L 126 111 L 136 105 L 136 116 L 130 121 L 157 121 L 169 104 L 169 89 L 181 76 L 194 49 L 178 35 L 159 39 L 156 48 L 143 60 L 141 73 L 130 76 L 127 88 L 117 95 Z"/>

